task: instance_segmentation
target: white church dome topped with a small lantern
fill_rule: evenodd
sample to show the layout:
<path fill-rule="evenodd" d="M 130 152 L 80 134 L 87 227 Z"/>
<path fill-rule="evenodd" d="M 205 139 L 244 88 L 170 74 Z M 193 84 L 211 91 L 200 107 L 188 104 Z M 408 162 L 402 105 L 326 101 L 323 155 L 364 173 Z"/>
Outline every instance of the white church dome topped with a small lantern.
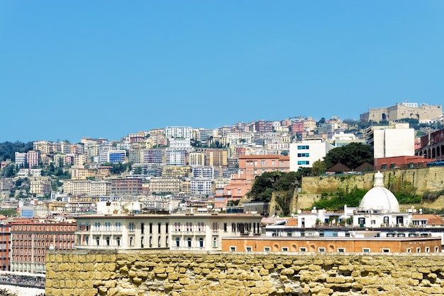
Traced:
<path fill-rule="evenodd" d="M 361 200 L 360 208 L 378 212 L 399 212 L 399 203 L 390 190 L 384 188 L 384 175 L 374 174 L 374 186 Z"/>

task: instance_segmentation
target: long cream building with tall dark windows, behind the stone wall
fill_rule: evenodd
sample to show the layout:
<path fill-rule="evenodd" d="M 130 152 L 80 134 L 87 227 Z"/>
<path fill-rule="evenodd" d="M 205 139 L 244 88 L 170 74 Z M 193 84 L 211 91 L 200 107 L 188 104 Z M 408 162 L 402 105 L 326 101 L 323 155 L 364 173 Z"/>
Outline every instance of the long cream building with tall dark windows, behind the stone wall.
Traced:
<path fill-rule="evenodd" d="M 76 247 L 220 251 L 223 237 L 260 234 L 261 219 L 251 214 L 78 216 Z"/>

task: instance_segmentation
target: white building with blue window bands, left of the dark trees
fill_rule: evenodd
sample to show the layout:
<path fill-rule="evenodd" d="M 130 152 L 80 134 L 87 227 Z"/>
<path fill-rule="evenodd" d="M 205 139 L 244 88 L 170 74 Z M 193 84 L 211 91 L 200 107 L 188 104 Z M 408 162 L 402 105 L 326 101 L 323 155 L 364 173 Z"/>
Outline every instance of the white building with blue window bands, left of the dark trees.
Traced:
<path fill-rule="evenodd" d="M 303 140 L 290 144 L 290 171 L 311 168 L 316 160 L 323 160 L 328 151 L 335 148 L 322 139 Z"/>

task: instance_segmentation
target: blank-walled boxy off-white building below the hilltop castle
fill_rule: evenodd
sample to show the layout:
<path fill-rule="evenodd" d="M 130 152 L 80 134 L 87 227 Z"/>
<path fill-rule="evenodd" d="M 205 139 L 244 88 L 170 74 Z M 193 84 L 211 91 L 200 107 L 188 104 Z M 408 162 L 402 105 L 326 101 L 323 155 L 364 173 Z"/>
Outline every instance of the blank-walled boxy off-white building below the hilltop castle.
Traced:
<path fill-rule="evenodd" d="M 410 128 L 409 124 L 369 126 L 365 139 L 373 150 L 373 158 L 415 154 L 415 130 Z"/>

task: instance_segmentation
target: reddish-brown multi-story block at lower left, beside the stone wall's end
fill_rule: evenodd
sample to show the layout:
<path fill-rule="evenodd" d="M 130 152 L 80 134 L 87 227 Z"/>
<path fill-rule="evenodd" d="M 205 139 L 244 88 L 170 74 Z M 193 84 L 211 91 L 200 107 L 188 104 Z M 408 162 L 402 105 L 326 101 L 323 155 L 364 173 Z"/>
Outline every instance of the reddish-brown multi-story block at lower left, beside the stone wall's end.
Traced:
<path fill-rule="evenodd" d="M 11 271 L 45 273 L 46 250 L 73 249 L 75 229 L 73 222 L 37 219 L 11 222 Z"/>

